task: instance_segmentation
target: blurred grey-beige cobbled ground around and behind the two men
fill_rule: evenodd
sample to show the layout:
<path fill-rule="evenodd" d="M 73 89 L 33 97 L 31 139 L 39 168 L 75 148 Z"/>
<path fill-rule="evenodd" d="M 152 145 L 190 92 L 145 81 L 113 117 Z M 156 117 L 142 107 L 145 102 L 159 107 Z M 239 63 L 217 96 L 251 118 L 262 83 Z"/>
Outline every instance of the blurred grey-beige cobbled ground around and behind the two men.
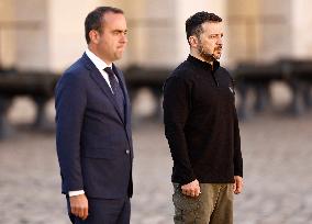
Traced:
<path fill-rule="evenodd" d="M 245 191 L 236 224 L 312 223 L 312 114 L 265 115 L 241 125 Z M 134 128 L 132 224 L 170 224 L 171 159 L 160 124 Z M 20 131 L 0 142 L 2 224 L 68 224 L 54 134 Z"/>

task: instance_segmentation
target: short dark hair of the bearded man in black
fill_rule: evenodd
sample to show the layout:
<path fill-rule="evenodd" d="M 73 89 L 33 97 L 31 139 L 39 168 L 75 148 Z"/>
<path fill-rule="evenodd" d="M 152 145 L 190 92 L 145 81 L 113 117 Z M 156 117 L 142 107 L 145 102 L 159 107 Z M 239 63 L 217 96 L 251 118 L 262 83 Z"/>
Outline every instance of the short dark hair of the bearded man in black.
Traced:
<path fill-rule="evenodd" d="M 196 35 L 197 37 L 203 32 L 202 24 L 205 22 L 222 22 L 222 19 L 214 13 L 197 12 L 186 21 L 187 38 Z"/>

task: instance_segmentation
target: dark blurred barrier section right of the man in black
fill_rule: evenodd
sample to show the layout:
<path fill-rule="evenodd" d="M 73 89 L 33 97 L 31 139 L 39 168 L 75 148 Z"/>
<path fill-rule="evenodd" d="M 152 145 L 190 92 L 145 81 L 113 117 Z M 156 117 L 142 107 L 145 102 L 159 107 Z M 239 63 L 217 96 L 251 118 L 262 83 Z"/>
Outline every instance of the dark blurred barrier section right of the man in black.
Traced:
<path fill-rule="evenodd" d="M 289 112 L 300 115 L 312 105 L 312 60 L 280 59 L 271 64 L 242 63 L 233 70 L 236 90 L 241 97 L 237 105 L 241 119 L 250 116 L 252 112 L 261 112 L 270 103 L 270 85 L 274 81 L 286 82 L 292 93 Z M 256 98 L 253 111 L 247 109 L 247 99 L 254 92 Z"/>

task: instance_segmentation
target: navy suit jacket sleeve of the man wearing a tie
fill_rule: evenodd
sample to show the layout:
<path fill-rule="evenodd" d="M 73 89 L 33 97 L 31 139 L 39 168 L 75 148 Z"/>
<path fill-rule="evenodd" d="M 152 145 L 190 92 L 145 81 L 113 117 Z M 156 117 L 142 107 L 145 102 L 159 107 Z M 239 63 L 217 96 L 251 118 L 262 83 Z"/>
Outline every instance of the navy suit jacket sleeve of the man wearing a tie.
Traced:
<path fill-rule="evenodd" d="M 56 87 L 56 147 L 65 193 L 83 189 L 80 135 L 87 93 L 81 77 L 65 74 Z"/>

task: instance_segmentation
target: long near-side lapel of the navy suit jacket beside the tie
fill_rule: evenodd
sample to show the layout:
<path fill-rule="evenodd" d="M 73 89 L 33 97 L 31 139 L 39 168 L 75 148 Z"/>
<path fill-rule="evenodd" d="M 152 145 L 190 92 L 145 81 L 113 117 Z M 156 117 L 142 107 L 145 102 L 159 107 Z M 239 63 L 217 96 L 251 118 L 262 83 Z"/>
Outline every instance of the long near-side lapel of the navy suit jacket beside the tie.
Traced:
<path fill-rule="evenodd" d="M 99 69 L 94 66 L 94 64 L 89 59 L 89 57 L 86 55 L 86 53 L 83 54 L 82 58 L 86 61 L 86 66 L 87 68 L 90 70 L 90 76 L 91 78 L 96 81 L 96 83 L 100 87 L 100 89 L 104 92 L 104 94 L 109 98 L 109 100 L 111 101 L 111 103 L 114 105 L 114 109 L 118 112 L 119 117 L 121 119 L 121 121 L 124 123 L 124 119 L 122 117 L 122 114 L 120 112 L 120 110 L 118 109 L 118 104 L 113 98 L 113 93 L 111 91 L 111 88 L 109 87 L 108 82 L 105 81 L 105 79 L 103 78 L 103 76 L 101 75 L 101 72 L 99 71 Z M 119 78 L 120 79 L 120 78 Z M 123 86 L 123 85 L 122 85 Z M 122 88 L 124 89 L 124 88 Z M 123 90 L 124 91 L 124 90 Z"/>

